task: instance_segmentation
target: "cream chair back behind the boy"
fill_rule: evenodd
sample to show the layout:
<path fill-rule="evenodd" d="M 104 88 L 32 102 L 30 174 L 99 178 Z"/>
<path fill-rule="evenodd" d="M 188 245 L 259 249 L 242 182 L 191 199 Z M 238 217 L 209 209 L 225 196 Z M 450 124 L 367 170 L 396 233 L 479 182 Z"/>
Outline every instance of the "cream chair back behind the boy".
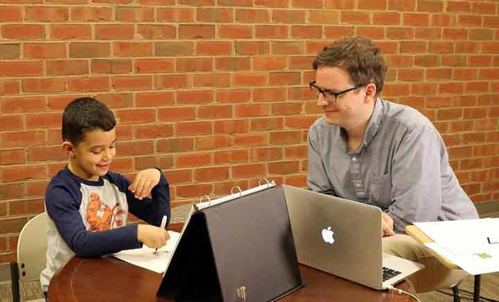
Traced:
<path fill-rule="evenodd" d="M 42 213 L 24 225 L 17 240 L 17 265 L 19 280 L 40 279 L 40 272 L 46 265 L 47 250 L 46 214 Z"/>

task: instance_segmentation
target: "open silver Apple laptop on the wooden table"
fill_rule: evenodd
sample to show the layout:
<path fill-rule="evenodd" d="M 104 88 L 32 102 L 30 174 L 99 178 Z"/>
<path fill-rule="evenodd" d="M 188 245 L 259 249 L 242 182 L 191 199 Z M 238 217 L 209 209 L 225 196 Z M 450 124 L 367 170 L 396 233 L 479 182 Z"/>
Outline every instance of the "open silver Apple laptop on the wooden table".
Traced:
<path fill-rule="evenodd" d="M 424 267 L 382 252 L 378 207 L 283 187 L 299 263 L 376 290 Z"/>

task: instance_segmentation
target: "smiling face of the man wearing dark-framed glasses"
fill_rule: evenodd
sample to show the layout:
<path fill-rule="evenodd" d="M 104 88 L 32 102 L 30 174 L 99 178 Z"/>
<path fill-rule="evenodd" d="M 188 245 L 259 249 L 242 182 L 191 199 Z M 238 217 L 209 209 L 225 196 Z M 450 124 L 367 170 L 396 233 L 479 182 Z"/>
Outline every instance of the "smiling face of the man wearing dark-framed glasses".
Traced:
<path fill-rule="evenodd" d="M 340 92 L 352 88 L 350 75 L 342 68 L 319 66 L 315 75 L 315 85 L 323 90 Z M 328 124 L 350 129 L 365 122 L 366 104 L 365 88 L 360 87 L 338 95 L 336 100 L 327 101 L 324 95 L 319 94 L 317 105 L 322 106 L 324 117 Z"/>

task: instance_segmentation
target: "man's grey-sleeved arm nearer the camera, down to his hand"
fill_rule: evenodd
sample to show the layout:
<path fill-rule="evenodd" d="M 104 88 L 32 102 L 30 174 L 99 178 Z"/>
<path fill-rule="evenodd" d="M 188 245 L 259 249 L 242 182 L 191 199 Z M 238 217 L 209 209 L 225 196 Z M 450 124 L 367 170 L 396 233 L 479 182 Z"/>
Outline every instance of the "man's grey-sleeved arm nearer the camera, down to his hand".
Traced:
<path fill-rule="evenodd" d="M 416 126 L 403 135 L 392 162 L 392 205 L 387 214 L 394 230 L 417 221 L 434 221 L 441 209 L 441 148 L 430 126 Z"/>

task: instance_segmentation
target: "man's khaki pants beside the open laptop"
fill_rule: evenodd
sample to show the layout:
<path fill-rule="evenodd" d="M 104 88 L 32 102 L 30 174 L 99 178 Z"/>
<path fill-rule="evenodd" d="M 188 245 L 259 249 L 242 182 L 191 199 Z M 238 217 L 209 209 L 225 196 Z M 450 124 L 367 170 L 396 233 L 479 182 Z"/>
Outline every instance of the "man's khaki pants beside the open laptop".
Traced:
<path fill-rule="evenodd" d="M 453 287 L 468 276 L 464 270 L 452 270 L 432 256 L 428 249 L 405 234 L 383 237 L 383 252 L 419 262 L 425 268 L 409 280 L 416 292 L 431 292 Z"/>

